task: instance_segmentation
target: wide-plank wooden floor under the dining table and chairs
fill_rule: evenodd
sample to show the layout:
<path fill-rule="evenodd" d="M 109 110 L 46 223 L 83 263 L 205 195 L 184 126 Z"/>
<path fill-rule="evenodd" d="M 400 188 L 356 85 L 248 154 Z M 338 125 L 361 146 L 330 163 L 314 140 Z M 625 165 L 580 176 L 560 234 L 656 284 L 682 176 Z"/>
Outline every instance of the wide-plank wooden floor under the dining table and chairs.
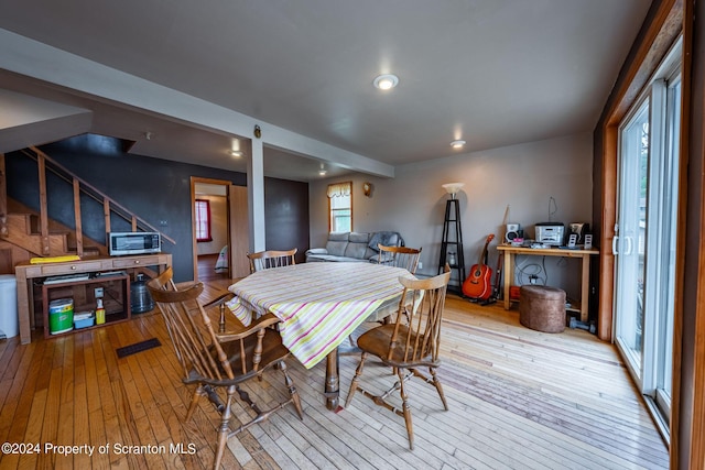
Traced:
<path fill-rule="evenodd" d="M 226 285 L 209 283 L 204 296 Z M 226 468 L 668 468 L 668 450 L 611 345 L 583 330 L 532 331 L 516 310 L 453 295 L 445 317 L 440 375 L 451 411 L 432 387 L 412 382 L 415 450 L 403 419 L 361 394 L 347 409 L 327 411 L 325 365 L 305 370 L 291 360 L 303 422 L 288 407 L 231 438 Z M 117 358 L 117 348 L 153 337 L 163 346 Z M 356 364 L 340 359 L 343 401 Z M 392 378 L 369 362 L 362 380 L 375 389 Z M 261 384 L 263 392 L 250 389 L 261 400 L 284 392 L 278 371 Z M 35 331 L 26 346 L 0 340 L 0 442 L 40 445 L 40 453 L 0 455 L 0 468 L 209 468 L 217 417 L 203 403 L 184 423 L 189 397 L 158 313 L 48 340 Z M 59 456 L 47 444 L 96 449 Z"/>

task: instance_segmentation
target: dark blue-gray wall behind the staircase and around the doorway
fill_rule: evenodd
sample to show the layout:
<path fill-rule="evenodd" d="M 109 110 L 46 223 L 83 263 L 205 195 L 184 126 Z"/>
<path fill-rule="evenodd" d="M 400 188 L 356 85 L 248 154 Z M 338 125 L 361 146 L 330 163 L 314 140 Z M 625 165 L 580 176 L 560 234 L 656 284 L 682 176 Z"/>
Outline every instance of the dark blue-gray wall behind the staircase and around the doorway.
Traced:
<path fill-rule="evenodd" d="M 122 151 L 122 142 L 112 138 L 79 135 L 41 149 L 76 176 L 174 239 L 175 244 L 163 241 L 162 251 L 172 253 L 177 282 L 193 280 L 191 177 L 224 179 L 236 186 L 247 186 L 243 173 L 127 154 Z M 9 197 L 37 209 L 36 163 L 20 152 L 12 152 L 6 155 L 6 166 Z M 50 218 L 74 227 L 70 184 L 47 174 L 47 194 Z M 265 178 L 264 210 L 268 247 L 272 233 L 272 247 L 307 249 L 306 183 Z M 82 196 L 82 223 L 86 237 L 105 242 L 101 201 Z M 110 223 L 112 231 L 130 230 L 130 225 L 116 216 Z"/>

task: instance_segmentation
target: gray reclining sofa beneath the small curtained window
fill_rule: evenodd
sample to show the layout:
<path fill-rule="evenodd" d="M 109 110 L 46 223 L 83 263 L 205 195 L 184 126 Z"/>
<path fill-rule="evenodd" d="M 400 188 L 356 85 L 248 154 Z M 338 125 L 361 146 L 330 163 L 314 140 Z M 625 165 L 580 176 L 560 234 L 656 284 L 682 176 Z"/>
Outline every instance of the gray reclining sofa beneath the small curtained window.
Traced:
<path fill-rule="evenodd" d="M 404 240 L 399 232 L 330 232 L 325 248 L 312 248 L 306 251 L 306 263 L 322 261 L 354 261 L 377 263 L 378 248 L 403 247 Z"/>

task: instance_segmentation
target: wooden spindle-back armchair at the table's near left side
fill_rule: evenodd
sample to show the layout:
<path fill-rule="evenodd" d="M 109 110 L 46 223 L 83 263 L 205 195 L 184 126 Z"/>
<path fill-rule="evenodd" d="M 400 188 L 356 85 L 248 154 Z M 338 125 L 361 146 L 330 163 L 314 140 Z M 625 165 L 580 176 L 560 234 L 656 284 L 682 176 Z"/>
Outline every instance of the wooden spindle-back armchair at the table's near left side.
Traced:
<path fill-rule="evenodd" d="M 272 413 L 293 404 L 296 414 L 303 419 L 299 393 L 286 370 L 285 359 L 290 352 L 282 345 L 279 332 L 269 328 L 279 323 L 279 318 L 267 314 L 248 327 L 240 326 L 234 331 L 216 334 L 210 316 L 198 302 L 198 296 L 204 289 L 202 283 L 192 283 L 186 287 L 178 285 L 180 289 L 176 289 L 170 269 L 147 285 L 162 313 L 174 352 L 182 365 L 182 382 L 186 385 L 195 385 L 186 420 L 191 420 L 200 397 L 210 401 L 220 414 L 214 469 L 220 467 L 225 446 L 230 437 L 268 419 Z M 210 305 L 217 306 L 226 298 L 219 297 Z M 283 374 L 289 397 L 269 405 L 268 409 L 262 409 L 250 398 L 247 391 L 240 387 L 240 384 L 256 378 L 261 381 L 262 373 L 272 367 Z M 258 382 L 252 381 L 249 386 L 252 387 Z M 219 393 L 223 390 L 226 394 L 225 401 Z M 230 418 L 236 393 L 245 402 L 245 408 L 251 411 L 251 419 L 232 429 Z M 254 416 L 251 416 L 251 413 Z"/>

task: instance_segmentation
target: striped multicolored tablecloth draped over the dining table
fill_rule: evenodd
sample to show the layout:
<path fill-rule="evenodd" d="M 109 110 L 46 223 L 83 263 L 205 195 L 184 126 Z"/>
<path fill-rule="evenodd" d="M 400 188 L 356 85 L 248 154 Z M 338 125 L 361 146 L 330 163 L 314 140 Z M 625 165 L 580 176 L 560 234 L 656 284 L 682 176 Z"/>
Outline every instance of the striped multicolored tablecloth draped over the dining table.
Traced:
<path fill-rule="evenodd" d="M 305 263 L 258 271 L 232 284 L 228 304 L 248 324 L 251 311 L 282 320 L 282 341 L 311 369 L 380 307 L 398 303 L 401 267 L 373 263 Z"/>

